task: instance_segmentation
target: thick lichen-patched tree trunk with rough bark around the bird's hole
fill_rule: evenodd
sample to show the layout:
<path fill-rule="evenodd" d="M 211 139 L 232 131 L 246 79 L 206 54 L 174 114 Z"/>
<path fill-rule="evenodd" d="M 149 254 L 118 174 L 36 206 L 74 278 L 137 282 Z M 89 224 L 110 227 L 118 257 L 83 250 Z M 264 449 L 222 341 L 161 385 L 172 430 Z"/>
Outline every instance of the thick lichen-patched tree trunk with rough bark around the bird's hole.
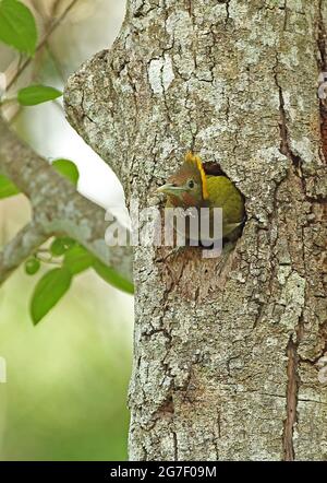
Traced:
<path fill-rule="evenodd" d="M 327 0 L 130 0 L 68 83 L 128 201 L 190 149 L 246 200 L 221 272 L 135 248 L 132 460 L 327 460 L 326 22 Z"/>

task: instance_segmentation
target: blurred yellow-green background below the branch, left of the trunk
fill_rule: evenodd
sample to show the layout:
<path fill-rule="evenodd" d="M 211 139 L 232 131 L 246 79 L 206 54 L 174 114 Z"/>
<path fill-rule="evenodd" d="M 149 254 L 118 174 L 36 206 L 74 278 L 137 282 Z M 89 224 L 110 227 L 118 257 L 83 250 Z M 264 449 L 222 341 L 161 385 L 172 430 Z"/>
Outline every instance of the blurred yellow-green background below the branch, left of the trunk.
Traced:
<path fill-rule="evenodd" d="M 108 293 L 85 273 L 47 323 L 34 328 L 27 283 L 19 271 L 0 295 L 0 354 L 8 365 L 0 459 L 125 459 L 131 320 L 118 306 L 126 307 L 128 296 Z"/>

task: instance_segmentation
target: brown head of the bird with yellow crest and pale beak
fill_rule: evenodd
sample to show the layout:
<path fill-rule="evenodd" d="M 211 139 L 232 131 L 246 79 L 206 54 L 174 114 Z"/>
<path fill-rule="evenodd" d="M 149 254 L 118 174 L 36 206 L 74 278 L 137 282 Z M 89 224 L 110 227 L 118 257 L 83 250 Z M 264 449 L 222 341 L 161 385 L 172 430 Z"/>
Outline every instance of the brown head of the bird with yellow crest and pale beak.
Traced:
<path fill-rule="evenodd" d="M 201 207 L 208 198 L 206 175 L 199 156 L 189 152 L 182 166 L 158 188 L 174 207 Z"/>

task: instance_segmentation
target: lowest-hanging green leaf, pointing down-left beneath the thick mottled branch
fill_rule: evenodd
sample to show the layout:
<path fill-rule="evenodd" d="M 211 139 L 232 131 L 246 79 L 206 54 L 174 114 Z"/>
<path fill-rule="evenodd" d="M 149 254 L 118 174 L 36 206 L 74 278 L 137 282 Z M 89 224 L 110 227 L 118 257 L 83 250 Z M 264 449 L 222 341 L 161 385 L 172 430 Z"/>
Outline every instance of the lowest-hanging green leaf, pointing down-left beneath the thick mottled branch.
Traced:
<path fill-rule="evenodd" d="M 68 292 L 71 281 L 72 274 L 65 267 L 50 270 L 38 281 L 31 303 L 31 315 L 35 326 Z"/>

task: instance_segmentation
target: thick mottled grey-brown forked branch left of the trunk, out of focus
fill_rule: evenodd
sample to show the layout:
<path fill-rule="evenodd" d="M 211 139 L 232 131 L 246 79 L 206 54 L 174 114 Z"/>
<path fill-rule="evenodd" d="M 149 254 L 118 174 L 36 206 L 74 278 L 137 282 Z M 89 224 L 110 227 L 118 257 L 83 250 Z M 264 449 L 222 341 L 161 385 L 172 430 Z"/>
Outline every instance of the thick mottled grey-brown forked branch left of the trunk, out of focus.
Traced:
<path fill-rule="evenodd" d="M 33 223 L 41 234 L 39 244 L 52 235 L 66 235 L 74 238 L 104 263 L 119 274 L 132 280 L 132 250 L 130 247 L 108 247 L 105 243 L 105 211 L 82 197 L 65 178 L 59 175 L 49 163 L 24 143 L 0 117 L 0 172 L 8 176 L 29 199 L 33 207 Z M 2 252 L 3 259 L 11 254 L 12 260 L 23 261 L 36 246 L 31 244 L 27 252 L 26 236 L 31 229 L 24 228 Z M 33 229 L 34 229 L 33 228 Z M 21 241 L 20 241 L 21 237 Z M 23 238 L 22 238 L 23 237 Z M 33 238 L 33 237 L 32 237 Z M 22 244 L 24 250 L 22 250 Z M 16 247 L 16 254 L 13 249 Z M 9 250 L 9 251 L 8 251 Z M 22 250 L 20 255 L 19 251 Z M 20 262 L 21 262 L 20 261 Z M 19 263 L 20 263 L 19 262 Z M 8 264 L 8 261 L 5 261 Z M 13 270 L 19 263 L 12 261 Z M 5 270 L 4 270 L 5 271 Z M 3 275 L 2 275 L 3 276 Z M 1 274 L 0 274 L 1 281 Z"/>

